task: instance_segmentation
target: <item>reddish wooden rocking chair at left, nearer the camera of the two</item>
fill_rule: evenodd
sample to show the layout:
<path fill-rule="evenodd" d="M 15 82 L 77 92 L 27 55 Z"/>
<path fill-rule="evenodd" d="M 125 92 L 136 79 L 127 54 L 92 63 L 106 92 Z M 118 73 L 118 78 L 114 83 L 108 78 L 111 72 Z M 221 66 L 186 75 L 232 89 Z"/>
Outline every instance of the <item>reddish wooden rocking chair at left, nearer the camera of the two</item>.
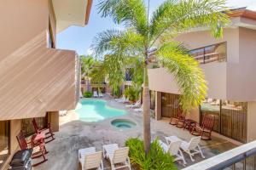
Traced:
<path fill-rule="evenodd" d="M 48 161 L 48 159 L 46 159 L 45 155 L 48 153 L 48 151 L 45 148 L 44 145 L 44 140 L 39 141 L 38 143 L 33 143 L 33 141 L 31 142 L 31 147 L 28 146 L 29 143 L 26 142 L 25 136 L 24 134 L 20 131 L 20 133 L 16 136 L 16 139 L 18 140 L 18 143 L 20 145 L 20 149 L 21 150 L 26 150 L 26 149 L 34 149 L 37 147 L 38 151 L 32 153 L 32 159 L 38 158 L 38 157 L 43 157 L 43 161 L 40 161 L 36 164 L 33 164 L 32 167 L 36 167 L 42 163 L 44 163 L 45 161 Z"/>

